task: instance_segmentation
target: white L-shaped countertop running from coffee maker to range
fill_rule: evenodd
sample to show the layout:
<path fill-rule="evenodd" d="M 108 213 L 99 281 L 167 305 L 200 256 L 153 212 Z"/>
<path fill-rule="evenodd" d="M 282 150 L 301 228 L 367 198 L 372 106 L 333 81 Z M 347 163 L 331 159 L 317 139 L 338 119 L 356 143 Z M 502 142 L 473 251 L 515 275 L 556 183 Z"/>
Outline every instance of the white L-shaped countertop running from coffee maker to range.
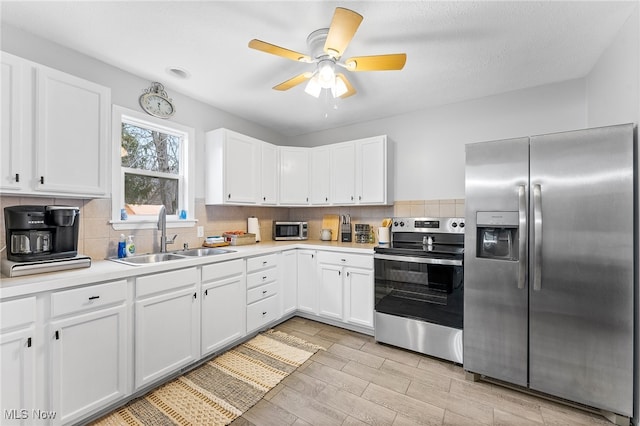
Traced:
<path fill-rule="evenodd" d="M 234 250 L 232 253 L 171 260 L 149 265 L 131 266 L 110 260 L 98 260 L 92 261 L 89 268 L 34 274 L 15 278 L 8 278 L 3 275 L 0 279 L 0 300 L 98 283 L 101 281 L 132 278 L 139 275 L 164 272 L 189 266 L 241 259 L 286 249 L 303 248 L 310 250 L 344 251 L 354 254 L 373 254 L 373 248 L 375 246 L 375 244 L 341 243 L 339 241 L 320 240 L 262 241 L 251 245 L 223 247 Z"/>

